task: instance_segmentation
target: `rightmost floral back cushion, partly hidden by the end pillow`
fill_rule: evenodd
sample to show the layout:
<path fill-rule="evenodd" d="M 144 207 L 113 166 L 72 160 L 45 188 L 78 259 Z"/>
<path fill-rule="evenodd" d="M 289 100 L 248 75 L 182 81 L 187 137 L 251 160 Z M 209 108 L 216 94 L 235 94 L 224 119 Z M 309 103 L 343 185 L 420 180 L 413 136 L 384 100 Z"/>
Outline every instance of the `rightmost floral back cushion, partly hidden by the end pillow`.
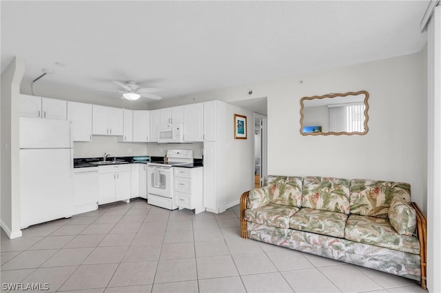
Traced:
<path fill-rule="evenodd" d="M 406 202 L 410 202 L 410 184 L 378 180 L 351 180 L 351 214 L 387 219 L 393 197 L 400 197 Z"/>

